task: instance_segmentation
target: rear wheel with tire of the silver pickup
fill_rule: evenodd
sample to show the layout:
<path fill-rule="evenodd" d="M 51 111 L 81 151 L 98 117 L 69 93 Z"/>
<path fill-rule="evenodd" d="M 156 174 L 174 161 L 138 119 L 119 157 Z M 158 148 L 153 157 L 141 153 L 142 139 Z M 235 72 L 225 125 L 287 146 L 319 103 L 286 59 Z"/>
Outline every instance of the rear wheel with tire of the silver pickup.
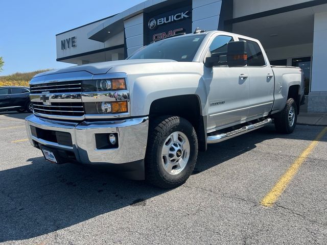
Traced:
<path fill-rule="evenodd" d="M 281 114 L 275 118 L 275 129 L 278 133 L 290 134 L 294 131 L 297 121 L 297 106 L 294 99 L 287 100 Z"/>

